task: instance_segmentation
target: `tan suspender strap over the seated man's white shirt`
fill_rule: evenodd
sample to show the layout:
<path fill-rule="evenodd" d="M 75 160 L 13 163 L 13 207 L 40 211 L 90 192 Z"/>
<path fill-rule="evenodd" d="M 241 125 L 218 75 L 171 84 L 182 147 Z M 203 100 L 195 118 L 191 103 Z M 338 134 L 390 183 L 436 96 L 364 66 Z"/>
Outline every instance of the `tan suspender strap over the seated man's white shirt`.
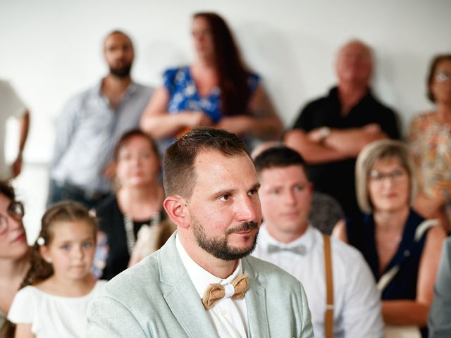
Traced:
<path fill-rule="evenodd" d="M 333 338 L 333 279 L 332 279 L 332 251 L 330 237 L 323 234 L 324 267 L 326 270 L 326 312 L 324 313 L 324 332 L 326 338 Z"/>

